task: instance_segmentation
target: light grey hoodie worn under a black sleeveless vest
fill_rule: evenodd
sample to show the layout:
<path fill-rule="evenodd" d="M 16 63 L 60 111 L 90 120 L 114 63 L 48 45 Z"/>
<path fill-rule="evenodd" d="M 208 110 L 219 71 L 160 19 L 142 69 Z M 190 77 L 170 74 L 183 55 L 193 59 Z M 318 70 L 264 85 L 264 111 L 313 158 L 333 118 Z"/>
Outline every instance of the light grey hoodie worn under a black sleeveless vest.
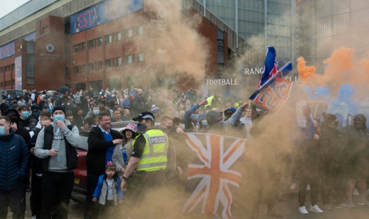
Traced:
<path fill-rule="evenodd" d="M 72 130 L 69 130 L 67 127 L 71 125 L 68 120 L 65 120 L 65 127 L 57 133 L 58 126 L 54 123 L 51 123 L 54 127 L 54 137 L 51 148 L 58 151 L 58 156 L 50 156 L 49 150 L 44 150 L 44 136 L 45 136 L 45 128 L 42 128 L 38 133 L 36 146 L 34 148 L 34 155 L 43 159 L 50 156 L 48 170 L 53 172 L 67 172 L 66 166 L 66 152 L 65 152 L 65 141 L 64 138 L 69 142 L 73 147 L 77 147 L 79 144 L 79 131 L 77 126 L 73 126 Z M 60 157 L 60 161 L 59 158 Z"/>

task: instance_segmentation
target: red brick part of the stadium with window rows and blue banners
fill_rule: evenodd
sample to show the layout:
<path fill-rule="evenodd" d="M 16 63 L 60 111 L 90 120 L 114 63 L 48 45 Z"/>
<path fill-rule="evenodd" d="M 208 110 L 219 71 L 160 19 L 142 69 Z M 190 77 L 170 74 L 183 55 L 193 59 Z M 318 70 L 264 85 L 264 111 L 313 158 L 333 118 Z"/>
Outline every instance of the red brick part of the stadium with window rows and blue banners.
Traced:
<path fill-rule="evenodd" d="M 133 12 L 132 6 L 118 7 L 121 9 L 118 11 L 114 5 L 115 9 L 108 10 L 112 2 L 96 1 L 67 16 L 40 17 L 32 22 L 34 31 L 0 45 L 0 89 L 58 90 L 67 85 L 72 90 L 90 86 L 99 90 L 154 86 L 155 77 L 165 72 L 153 69 L 152 65 L 148 69 L 145 56 L 149 48 L 147 39 L 153 37 L 145 29 L 156 25 L 150 22 L 153 15 L 145 14 L 142 0 L 134 1 L 141 3 L 141 8 L 138 6 Z M 104 5 L 105 11 L 101 12 Z M 228 66 L 228 34 L 194 9 L 188 11 L 188 16 L 201 19 L 197 31 L 210 45 L 206 75 L 216 78 Z M 95 13 L 104 14 L 98 20 Z M 164 23 L 160 27 L 163 26 Z M 160 48 L 157 52 L 160 54 Z"/>

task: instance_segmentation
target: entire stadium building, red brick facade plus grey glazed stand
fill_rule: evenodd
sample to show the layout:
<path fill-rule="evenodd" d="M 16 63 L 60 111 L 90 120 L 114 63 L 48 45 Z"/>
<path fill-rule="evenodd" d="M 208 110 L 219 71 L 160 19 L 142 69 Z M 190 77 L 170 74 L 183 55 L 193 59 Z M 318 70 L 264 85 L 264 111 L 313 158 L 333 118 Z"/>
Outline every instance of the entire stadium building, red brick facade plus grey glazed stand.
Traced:
<path fill-rule="evenodd" d="M 0 89 L 154 86 L 160 71 L 147 65 L 145 42 L 152 36 L 145 29 L 165 31 L 168 21 L 146 1 L 30 0 L 18 7 L 0 18 Z M 246 68 L 263 65 L 267 45 L 276 45 L 279 60 L 295 60 L 295 0 L 173 2 L 201 19 L 197 30 L 210 42 L 212 57 L 204 78 L 209 86 L 254 87 L 261 75 Z M 227 79 L 233 84 L 215 85 Z"/>

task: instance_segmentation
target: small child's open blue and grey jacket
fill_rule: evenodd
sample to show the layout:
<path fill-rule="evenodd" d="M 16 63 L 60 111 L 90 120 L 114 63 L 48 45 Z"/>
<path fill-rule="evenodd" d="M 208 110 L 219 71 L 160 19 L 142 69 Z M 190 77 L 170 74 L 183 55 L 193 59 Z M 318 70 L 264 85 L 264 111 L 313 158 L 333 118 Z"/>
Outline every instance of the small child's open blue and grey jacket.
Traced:
<path fill-rule="evenodd" d="M 123 192 L 121 189 L 121 179 L 118 176 L 115 176 L 113 183 L 113 195 L 114 195 L 114 204 L 118 204 L 118 200 L 123 199 Z M 105 201 L 108 195 L 108 183 L 106 182 L 106 174 L 100 175 L 99 181 L 97 182 L 97 186 L 95 191 L 93 192 L 92 197 L 97 198 L 99 203 L 105 205 Z"/>

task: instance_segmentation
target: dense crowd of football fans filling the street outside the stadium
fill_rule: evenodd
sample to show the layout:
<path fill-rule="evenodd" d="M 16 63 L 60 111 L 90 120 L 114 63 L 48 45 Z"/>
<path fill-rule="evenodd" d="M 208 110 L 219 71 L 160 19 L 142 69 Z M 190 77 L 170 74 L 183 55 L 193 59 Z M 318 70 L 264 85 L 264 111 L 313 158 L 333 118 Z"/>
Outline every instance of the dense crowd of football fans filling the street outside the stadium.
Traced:
<path fill-rule="evenodd" d="M 365 198 L 369 130 L 362 114 L 355 116 L 353 126 L 345 128 L 336 115 L 323 114 L 315 120 L 313 139 L 282 153 L 278 144 L 259 145 L 268 142 L 260 131 L 267 112 L 250 102 L 227 99 L 218 91 L 205 96 L 192 88 L 179 92 L 132 87 L 73 93 L 62 86 L 59 94 L 36 90 L 25 96 L 5 93 L 0 110 L 0 218 L 6 218 L 8 207 L 13 218 L 25 217 L 26 190 L 31 191 L 33 218 L 67 218 L 81 130 L 89 130 L 85 219 L 114 217 L 116 206 L 122 203 L 139 205 L 143 188 L 163 188 L 168 180 L 183 184 L 179 176 L 185 175 L 188 164 L 183 156 L 188 148 L 182 147 L 185 132 L 226 134 L 251 142 L 246 169 L 255 184 L 252 219 L 259 217 L 263 194 L 267 215 L 282 217 L 275 209 L 278 192 L 271 188 L 279 184 L 279 164 L 285 162 L 293 166 L 288 171 L 292 181 L 300 184 L 299 213 L 308 214 L 307 186 L 311 212 L 333 210 L 330 197 L 335 198 L 335 208 L 355 208 L 352 194 L 356 181 L 357 204 L 369 205 Z M 111 128 L 114 122 L 128 124 L 118 132 Z M 266 153 L 265 149 L 278 153 Z M 317 205 L 319 193 L 323 207 Z M 127 216 L 135 218 L 134 214 Z"/>

